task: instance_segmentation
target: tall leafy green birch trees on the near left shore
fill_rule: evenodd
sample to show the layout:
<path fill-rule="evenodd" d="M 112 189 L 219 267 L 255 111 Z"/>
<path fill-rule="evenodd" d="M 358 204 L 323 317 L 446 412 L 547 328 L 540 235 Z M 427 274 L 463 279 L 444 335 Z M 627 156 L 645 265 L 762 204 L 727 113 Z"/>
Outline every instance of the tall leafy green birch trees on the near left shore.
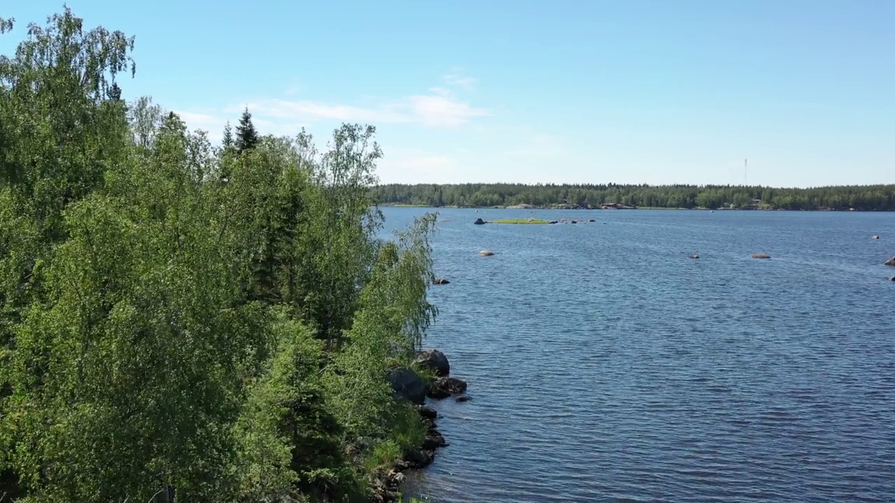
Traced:
<path fill-rule="evenodd" d="M 66 9 L 0 59 L 0 500 L 366 500 L 424 435 L 432 219 L 376 239 L 371 127 L 126 103 L 132 47 Z"/>

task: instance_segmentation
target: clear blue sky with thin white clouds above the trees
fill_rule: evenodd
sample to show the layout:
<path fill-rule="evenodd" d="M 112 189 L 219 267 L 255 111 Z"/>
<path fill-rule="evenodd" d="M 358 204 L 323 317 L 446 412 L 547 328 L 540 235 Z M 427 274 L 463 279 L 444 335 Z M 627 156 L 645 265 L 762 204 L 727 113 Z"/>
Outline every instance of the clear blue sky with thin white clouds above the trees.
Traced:
<path fill-rule="evenodd" d="M 11 5 L 12 4 L 12 5 Z M 895 182 L 895 2 L 69 0 L 220 138 L 377 126 L 382 182 Z M 25 24 L 62 2 L 4 2 Z"/>

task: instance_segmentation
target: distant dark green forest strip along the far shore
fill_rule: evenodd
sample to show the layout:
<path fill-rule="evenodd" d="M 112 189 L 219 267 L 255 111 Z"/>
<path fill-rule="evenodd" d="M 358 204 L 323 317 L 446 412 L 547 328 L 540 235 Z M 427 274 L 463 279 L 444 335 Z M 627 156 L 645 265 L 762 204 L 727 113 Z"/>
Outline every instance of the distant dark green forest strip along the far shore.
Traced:
<path fill-rule="evenodd" d="M 371 190 L 381 204 L 493 207 L 600 206 L 617 203 L 648 208 L 895 209 L 895 185 L 776 189 L 732 185 L 554 185 L 521 183 L 383 184 Z M 758 201 L 756 201 L 758 200 Z"/>

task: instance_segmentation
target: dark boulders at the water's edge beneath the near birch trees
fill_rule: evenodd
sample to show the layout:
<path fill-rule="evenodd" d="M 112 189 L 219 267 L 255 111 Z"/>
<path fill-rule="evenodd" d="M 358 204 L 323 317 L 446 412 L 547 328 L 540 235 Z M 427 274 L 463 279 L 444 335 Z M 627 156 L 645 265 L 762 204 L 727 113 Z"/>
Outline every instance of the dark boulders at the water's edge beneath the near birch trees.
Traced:
<path fill-rule="evenodd" d="M 426 438 L 422 446 L 406 452 L 405 456 L 397 460 L 391 468 L 377 476 L 373 481 L 373 494 L 370 499 L 373 503 L 398 501 L 398 490 L 406 480 L 404 472 L 421 470 L 431 465 L 435 459 L 436 449 L 447 446 L 447 441 L 436 422 L 438 411 L 425 405 L 426 397 L 442 400 L 455 396 L 457 402 L 471 399 L 465 395 L 466 381 L 450 376 L 450 363 L 447 362 L 444 353 L 437 349 L 421 351 L 416 354 L 414 363 L 418 368 L 431 371 L 435 379 L 427 383 L 413 368 L 401 367 L 392 371 L 388 380 L 397 399 L 408 400 L 416 405 L 416 410 L 426 426 Z"/>

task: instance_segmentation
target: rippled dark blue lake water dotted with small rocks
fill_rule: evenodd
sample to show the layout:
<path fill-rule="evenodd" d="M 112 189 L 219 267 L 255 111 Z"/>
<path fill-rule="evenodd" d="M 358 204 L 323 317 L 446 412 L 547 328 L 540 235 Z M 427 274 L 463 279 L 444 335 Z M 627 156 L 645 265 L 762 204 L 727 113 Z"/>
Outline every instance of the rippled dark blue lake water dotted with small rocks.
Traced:
<path fill-rule="evenodd" d="M 384 209 L 387 228 L 425 211 Z M 882 265 L 895 214 L 444 219 L 434 260 L 451 284 L 432 288 L 425 345 L 473 400 L 434 404 L 450 445 L 409 490 L 447 503 L 895 501 L 895 268 Z"/>

